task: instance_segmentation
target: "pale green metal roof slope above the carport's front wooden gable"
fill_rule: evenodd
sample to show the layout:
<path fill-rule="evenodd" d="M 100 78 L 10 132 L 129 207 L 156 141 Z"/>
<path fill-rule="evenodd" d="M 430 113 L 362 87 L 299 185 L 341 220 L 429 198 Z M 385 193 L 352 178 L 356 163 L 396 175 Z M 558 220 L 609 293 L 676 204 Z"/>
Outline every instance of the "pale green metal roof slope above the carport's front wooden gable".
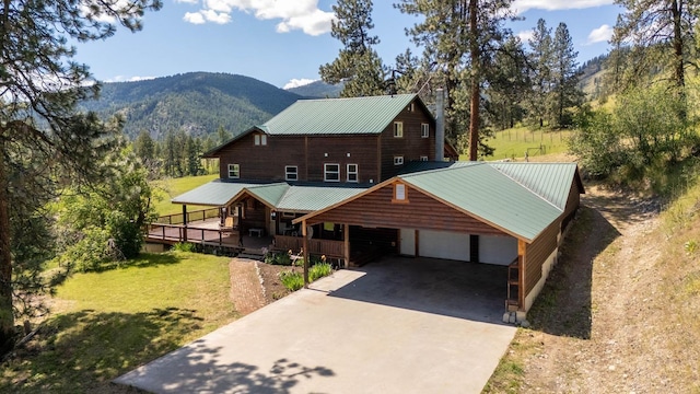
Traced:
<path fill-rule="evenodd" d="M 527 242 L 562 213 L 562 209 L 489 163 L 457 164 L 398 177 Z"/>

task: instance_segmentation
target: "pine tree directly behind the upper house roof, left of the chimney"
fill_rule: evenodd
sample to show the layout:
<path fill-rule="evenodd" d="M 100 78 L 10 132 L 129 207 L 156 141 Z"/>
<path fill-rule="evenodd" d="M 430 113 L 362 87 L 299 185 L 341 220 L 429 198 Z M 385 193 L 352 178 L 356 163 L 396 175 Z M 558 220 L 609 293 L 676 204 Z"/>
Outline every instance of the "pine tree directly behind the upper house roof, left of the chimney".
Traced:
<path fill-rule="evenodd" d="M 370 34 L 372 0 L 339 0 L 332 10 L 337 20 L 330 35 L 343 47 L 332 62 L 320 66 L 320 78 L 330 84 L 343 82 L 341 97 L 383 94 L 384 66 L 373 48 L 380 38 Z"/>

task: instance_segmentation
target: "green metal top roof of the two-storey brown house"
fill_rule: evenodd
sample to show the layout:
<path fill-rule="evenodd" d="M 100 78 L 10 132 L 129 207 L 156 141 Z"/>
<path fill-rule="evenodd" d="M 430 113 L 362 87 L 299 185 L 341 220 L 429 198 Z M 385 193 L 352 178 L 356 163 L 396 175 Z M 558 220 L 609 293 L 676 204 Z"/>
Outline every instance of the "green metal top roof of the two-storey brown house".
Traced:
<path fill-rule="evenodd" d="M 258 126 L 270 135 L 365 135 L 382 132 L 417 94 L 300 100 Z"/>

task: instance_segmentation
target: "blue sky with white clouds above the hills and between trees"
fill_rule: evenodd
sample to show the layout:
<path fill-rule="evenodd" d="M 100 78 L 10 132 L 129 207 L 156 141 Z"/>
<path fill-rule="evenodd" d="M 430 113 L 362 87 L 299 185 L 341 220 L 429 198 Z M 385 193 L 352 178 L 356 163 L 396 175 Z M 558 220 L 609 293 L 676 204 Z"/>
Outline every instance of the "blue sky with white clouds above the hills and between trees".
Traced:
<path fill-rule="evenodd" d="M 77 60 L 101 81 L 129 81 L 190 71 L 253 77 L 276 86 L 318 79 L 318 67 L 340 49 L 330 37 L 335 0 L 163 0 L 147 13 L 144 28 L 119 28 L 106 40 L 78 45 Z M 385 63 L 415 49 L 404 28 L 418 20 L 402 15 L 394 0 L 374 0 L 374 33 Z M 539 18 L 553 30 L 565 23 L 579 61 L 608 51 L 621 9 L 612 0 L 516 0 L 524 21 L 509 27 L 524 39 Z"/>

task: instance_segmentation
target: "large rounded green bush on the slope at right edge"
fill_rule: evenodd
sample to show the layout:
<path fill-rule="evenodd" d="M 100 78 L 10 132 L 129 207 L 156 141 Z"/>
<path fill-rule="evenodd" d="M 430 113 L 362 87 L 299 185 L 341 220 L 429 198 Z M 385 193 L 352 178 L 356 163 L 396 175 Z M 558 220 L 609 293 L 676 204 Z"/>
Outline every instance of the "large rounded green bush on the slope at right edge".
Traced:
<path fill-rule="evenodd" d="M 582 113 L 571 152 L 593 176 L 618 177 L 621 184 L 645 179 L 697 149 L 700 138 L 687 111 L 687 103 L 664 86 L 630 90 L 611 113 Z"/>

